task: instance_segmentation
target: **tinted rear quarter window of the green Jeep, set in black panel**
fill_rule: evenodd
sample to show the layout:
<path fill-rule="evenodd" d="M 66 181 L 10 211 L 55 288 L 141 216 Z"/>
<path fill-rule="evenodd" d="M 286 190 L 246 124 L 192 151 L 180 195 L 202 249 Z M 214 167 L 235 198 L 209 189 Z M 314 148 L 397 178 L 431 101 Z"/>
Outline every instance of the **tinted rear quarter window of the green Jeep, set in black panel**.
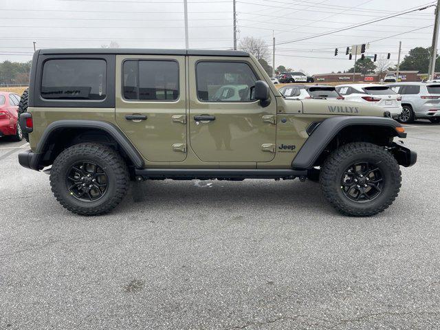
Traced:
<path fill-rule="evenodd" d="M 43 67 L 41 96 L 58 100 L 104 100 L 107 63 L 100 59 L 49 60 Z"/>

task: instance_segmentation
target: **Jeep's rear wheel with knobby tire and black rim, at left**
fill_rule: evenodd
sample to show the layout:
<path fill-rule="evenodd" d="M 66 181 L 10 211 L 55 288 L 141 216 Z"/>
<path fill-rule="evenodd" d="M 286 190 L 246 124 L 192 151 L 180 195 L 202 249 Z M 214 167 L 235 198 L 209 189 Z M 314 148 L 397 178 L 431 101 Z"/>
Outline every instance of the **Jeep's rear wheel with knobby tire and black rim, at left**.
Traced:
<path fill-rule="evenodd" d="M 67 210 L 81 215 L 104 214 L 126 195 L 129 171 L 124 159 L 109 146 L 76 144 L 56 157 L 50 186 Z"/>

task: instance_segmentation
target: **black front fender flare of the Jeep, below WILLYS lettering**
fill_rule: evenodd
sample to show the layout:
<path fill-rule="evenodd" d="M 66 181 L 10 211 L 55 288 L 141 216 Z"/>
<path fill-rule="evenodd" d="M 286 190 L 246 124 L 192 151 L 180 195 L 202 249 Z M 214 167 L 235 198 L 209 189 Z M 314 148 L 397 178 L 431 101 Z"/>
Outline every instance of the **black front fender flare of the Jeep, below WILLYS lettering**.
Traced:
<path fill-rule="evenodd" d="M 390 127 L 398 137 L 406 137 L 406 133 L 398 133 L 396 127 L 401 127 L 401 124 L 391 118 L 370 117 L 370 116 L 354 116 L 341 115 L 323 120 L 319 126 L 312 131 L 305 144 L 300 148 L 298 154 L 292 162 L 292 168 L 308 169 L 312 168 L 329 142 L 342 129 L 347 126 L 371 126 L 374 129 L 376 126 Z"/>

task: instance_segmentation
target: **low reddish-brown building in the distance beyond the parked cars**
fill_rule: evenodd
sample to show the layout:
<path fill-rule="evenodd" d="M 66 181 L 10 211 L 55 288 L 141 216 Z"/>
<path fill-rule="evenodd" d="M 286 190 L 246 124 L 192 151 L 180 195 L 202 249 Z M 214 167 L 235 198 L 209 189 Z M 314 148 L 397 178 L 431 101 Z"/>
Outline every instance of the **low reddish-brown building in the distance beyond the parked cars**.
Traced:
<path fill-rule="evenodd" d="M 356 82 L 379 83 L 386 74 L 395 74 L 395 71 L 387 71 L 382 74 L 355 74 Z M 436 72 L 435 76 L 438 73 Z M 338 74 L 314 74 L 315 83 L 349 83 L 353 81 L 353 73 L 338 73 Z M 423 81 L 428 78 L 428 74 L 421 74 L 418 71 L 400 71 L 400 81 Z"/>

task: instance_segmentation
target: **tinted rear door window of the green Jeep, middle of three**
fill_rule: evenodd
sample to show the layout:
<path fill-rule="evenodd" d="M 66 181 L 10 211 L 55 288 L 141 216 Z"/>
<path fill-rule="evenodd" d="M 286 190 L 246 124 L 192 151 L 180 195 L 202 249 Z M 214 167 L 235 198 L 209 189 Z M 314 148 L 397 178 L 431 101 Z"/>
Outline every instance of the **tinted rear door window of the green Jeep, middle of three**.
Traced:
<path fill-rule="evenodd" d="M 177 100 L 179 65 L 175 61 L 124 61 L 126 100 Z"/>

